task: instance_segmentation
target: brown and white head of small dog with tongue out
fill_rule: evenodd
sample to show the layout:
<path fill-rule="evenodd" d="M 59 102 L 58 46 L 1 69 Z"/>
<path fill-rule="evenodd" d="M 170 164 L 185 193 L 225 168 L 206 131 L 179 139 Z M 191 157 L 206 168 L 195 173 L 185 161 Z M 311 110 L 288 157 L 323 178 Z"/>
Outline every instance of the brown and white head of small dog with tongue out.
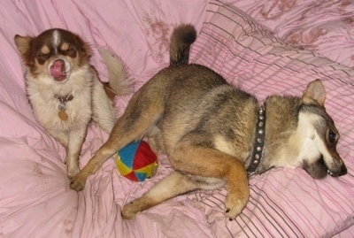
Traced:
<path fill-rule="evenodd" d="M 49 29 L 36 37 L 15 35 L 14 41 L 28 73 L 57 83 L 67 81 L 91 56 L 89 44 L 64 29 Z"/>

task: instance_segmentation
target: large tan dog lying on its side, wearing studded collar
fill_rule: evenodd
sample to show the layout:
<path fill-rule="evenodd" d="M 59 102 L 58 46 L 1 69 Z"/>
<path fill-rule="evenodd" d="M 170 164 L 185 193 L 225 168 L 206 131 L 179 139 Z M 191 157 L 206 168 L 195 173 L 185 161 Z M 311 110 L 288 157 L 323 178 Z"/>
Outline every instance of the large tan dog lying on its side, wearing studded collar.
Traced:
<path fill-rule="evenodd" d="M 135 93 L 71 188 L 84 188 L 107 158 L 144 136 L 165 151 L 174 172 L 127 203 L 125 219 L 173 196 L 222 186 L 227 186 L 227 217 L 235 219 L 248 201 L 250 174 L 273 167 L 302 167 L 315 179 L 347 173 L 321 81 L 310 82 L 303 96 L 268 96 L 259 104 L 211 69 L 188 64 L 195 39 L 190 25 L 173 31 L 171 65 Z"/>

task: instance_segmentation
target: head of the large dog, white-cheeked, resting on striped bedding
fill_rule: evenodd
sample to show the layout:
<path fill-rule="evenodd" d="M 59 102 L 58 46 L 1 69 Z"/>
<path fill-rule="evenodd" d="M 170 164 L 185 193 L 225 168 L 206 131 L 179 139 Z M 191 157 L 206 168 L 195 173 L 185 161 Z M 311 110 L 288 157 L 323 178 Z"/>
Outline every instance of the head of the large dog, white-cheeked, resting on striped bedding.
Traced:
<path fill-rule="evenodd" d="M 304 170 L 315 179 L 341 176 L 347 168 L 336 150 L 339 133 L 324 104 L 322 82 L 312 81 L 301 98 L 297 131 L 301 134 L 299 159 Z"/>

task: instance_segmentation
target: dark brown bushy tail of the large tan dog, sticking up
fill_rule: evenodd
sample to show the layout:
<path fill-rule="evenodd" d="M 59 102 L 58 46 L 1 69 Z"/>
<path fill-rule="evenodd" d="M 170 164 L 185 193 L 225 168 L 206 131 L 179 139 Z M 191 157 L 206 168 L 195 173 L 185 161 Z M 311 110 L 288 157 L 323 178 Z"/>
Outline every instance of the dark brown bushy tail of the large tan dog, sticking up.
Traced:
<path fill-rule="evenodd" d="M 174 28 L 170 42 L 170 65 L 189 64 L 190 45 L 196 41 L 196 29 L 183 24 Z"/>

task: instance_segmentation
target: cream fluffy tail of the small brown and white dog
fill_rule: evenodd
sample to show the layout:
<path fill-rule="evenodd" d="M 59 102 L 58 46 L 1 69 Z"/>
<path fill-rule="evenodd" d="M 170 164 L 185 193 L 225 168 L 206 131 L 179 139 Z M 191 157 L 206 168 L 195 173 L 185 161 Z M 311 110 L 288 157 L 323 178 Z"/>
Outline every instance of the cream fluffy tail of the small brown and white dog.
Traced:
<path fill-rule="evenodd" d="M 109 82 L 104 84 L 106 92 L 108 89 L 114 95 L 132 93 L 134 90 L 134 81 L 128 73 L 127 65 L 110 50 L 101 47 L 98 51 L 108 72 Z"/>

